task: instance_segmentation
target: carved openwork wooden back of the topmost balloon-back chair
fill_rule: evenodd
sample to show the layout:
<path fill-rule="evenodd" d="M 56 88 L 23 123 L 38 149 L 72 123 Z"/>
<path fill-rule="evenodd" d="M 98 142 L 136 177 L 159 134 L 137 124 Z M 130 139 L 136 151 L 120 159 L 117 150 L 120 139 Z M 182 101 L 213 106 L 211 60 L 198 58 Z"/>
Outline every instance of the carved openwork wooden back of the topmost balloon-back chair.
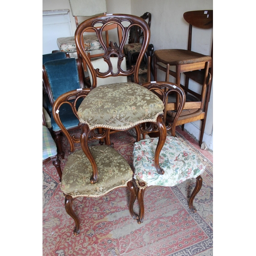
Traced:
<path fill-rule="evenodd" d="M 129 26 L 123 25 L 124 22 L 130 23 Z M 102 27 L 96 27 L 96 24 L 102 24 Z M 116 24 L 121 32 L 122 32 L 122 39 L 120 42 L 120 46 L 114 46 L 113 42 L 110 42 L 110 45 L 108 45 L 104 42 L 102 37 L 102 32 L 104 31 L 106 26 L 109 26 L 110 24 Z M 142 43 L 141 52 L 138 57 L 138 61 L 135 66 L 132 66 L 130 70 L 123 70 L 121 68 L 121 63 L 123 61 L 124 52 L 123 47 L 125 45 L 126 39 L 129 35 L 129 31 L 133 26 L 139 26 L 143 32 L 144 40 Z M 90 61 L 90 58 L 88 57 L 86 51 L 83 47 L 83 33 L 87 32 L 88 30 L 93 30 L 98 39 L 99 42 L 104 50 L 104 55 L 102 56 L 104 61 L 108 63 L 109 69 L 106 72 L 100 72 L 99 70 L 95 70 L 93 68 L 93 65 Z M 134 81 L 136 83 L 139 83 L 138 73 L 139 73 L 139 66 L 142 61 L 142 58 L 144 56 L 144 53 L 147 49 L 147 46 L 149 44 L 150 39 L 150 27 L 145 22 L 144 19 L 129 15 L 129 14 L 113 14 L 111 16 L 108 15 L 102 15 L 98 17 L 93 17 L 87 20 L 84 20 L 75 32 L 75 42 L 76 42 L 76 48 L 77 48 L 77 54 L 86 62 L 87 67 L 90 69 L 90 72 L 92 73 L 92 88 L 95 88 L 97 86 L 97 77 L 105 78 L 109 76 L 131 76 L 134 75 Z M 110 57 L 117 57 L 117 72 L 113 72 L 113 66 L 110 60 Z"/>

